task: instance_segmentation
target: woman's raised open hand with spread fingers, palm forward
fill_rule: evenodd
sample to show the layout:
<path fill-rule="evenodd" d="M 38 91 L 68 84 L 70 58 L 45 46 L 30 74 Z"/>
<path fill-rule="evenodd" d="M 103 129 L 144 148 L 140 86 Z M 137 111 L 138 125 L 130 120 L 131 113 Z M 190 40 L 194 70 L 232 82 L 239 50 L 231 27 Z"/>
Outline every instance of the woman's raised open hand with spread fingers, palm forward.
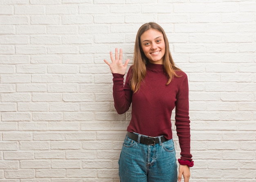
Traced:
<path fill-rule="evenodd" d="M 111 63 L 109 63 L 106 59 L 104 59 L 104 62 L 110 67 L 111 72 L 124 75 L 130 59 L 126 59 L 126 61 L 123 64 L 123 61 L 122 61 L 123 50 L 120 49 L 119 58 L 118 58 L 118 48 L 115 49 L 115 58 L 113 57 L 113 53 L 110 51 L 110 59 L 112 61 Z"/>

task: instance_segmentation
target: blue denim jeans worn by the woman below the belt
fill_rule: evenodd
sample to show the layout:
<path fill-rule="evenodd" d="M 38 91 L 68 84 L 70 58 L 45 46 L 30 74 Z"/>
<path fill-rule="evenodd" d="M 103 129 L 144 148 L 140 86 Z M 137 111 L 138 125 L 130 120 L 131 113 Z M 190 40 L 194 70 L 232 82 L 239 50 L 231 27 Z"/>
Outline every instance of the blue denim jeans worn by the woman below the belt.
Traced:
<path fill-rule="evenodd" d="M 175 154 L 172 139 L 146 145 L 126 136 L 118 162 L 120 182 L 177 182 Z"/>

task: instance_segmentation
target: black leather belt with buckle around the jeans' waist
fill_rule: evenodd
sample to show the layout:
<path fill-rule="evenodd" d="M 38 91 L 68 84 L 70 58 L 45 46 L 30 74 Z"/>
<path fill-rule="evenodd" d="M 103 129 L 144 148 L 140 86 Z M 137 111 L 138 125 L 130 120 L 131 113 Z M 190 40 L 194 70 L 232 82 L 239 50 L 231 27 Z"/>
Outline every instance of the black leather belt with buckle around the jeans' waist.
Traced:
<path fill-rule="evenodd" d="M 127 136 L 128 136 L 128 138 L 138 142 L 139 135 L 127 132 Z M 166 139 L 164 136 L 161 136 L 161 142 L 162 143 L 167 141 L 167 140 L 168 139 Z M 158 137 L 150 137 L 150 136 L 148 136 L 148 137 L 141 136 L 140 140 L 139 140 L 139 143 L 143 143 L 143 144 L 146 144 L 146 145 L 155 145 L 155 144 L 159 143 L 159 138 Z"/>

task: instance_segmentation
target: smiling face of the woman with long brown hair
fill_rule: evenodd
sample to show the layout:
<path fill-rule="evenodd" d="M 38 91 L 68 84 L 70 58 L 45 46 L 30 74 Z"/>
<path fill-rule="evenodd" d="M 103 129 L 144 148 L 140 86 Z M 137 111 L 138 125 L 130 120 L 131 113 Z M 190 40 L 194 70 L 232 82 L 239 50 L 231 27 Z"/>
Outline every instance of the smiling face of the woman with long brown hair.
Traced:
<path fill-rule="evenodd" d="M 164 36 L 155 29 L 149 29 L 141 34 L 141 48 L 150 63 L 163 64 L 165 54 Z"/>

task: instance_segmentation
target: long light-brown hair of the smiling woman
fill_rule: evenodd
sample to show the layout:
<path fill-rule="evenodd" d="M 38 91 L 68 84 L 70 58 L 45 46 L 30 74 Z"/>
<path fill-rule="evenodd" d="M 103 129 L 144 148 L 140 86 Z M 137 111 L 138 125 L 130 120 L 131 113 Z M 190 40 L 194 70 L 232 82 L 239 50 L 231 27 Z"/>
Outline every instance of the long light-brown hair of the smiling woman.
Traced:
<path fill-rule="evenodd" d="M 164 29 L 159 24 L 157 24 L 155 22 L 145 23 L 139 28 L 139 30 L 137 32 L 135 46 L 134 46 L 134 55 L 133 55 L 134 63 L 132 65 L 132 75 L 131 75 L 131 79 L 130 79 L 131 90 L 134 93 L 139 90 L 141 82 L 143 81 L 143 79 L 146 76 L 146 64 L 149 61 L 141 48 L 140 37 L 145 31 L 148 31 L 149 29 L 155 29 L 156 31 L 161 32 L 164 36 L 165 53 L 164 53 L 164 57 L 163 57 L 164 58 L 163 68 L 168 77 L 168 81 L 167 81 L 166 85 L 171 83 L 171 80 L 173 79 L 173 77 L 179 77 L 175 71 L 180 70 L 180 68 L 177 68 L 177 66 L 175 66 L 175 63 L 171 56 L 169 42 L 168 42 L 167 36 L 164 32 Z"/>

